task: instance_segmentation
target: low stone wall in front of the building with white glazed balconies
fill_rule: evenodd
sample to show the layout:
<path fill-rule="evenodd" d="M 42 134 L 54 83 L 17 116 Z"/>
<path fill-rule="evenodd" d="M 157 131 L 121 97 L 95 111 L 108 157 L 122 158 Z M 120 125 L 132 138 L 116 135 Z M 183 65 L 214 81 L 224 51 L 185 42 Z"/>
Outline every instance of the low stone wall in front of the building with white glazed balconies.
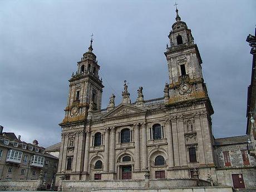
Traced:
<path fill-rule="evenodd" d="M 0 190 L 2 191 L 35 191 L 39 188 L 39 180 L 0 180 Z"/>

